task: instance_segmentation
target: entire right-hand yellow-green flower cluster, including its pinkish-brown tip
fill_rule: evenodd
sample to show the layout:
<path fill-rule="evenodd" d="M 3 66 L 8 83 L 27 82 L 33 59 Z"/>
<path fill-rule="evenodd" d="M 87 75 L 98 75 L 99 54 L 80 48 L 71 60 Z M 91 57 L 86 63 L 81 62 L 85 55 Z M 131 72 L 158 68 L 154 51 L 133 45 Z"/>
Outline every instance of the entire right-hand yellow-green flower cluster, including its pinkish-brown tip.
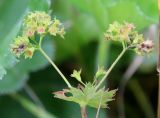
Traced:
<path fill-rule="evenodd" d="M 120 24 L 114 22 L 110 24 L 104 37 L 106 40 L 123 42 L 127 46 L 134 48 L 138 54 L 150 53 L 153 49 L 153 42 L 150 40 L 145 41 L 143 35 L 138 34 L 135 26 L 130 23 Z"/>

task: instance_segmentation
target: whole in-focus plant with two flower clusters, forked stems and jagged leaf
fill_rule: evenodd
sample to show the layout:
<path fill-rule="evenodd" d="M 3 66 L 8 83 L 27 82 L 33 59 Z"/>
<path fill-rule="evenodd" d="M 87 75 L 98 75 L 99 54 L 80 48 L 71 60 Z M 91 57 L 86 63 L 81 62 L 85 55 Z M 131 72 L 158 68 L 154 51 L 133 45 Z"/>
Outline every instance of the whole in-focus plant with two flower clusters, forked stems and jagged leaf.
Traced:
<path fill-rule="evenodd" d="M 109 25 L 108 30 L 104 33 L 104 37 L 106 43 L 107 40 L 120 42 L 123 48 L 122 52 L 108 70 L 105 70 L 103 67 L 98 68 L 93 77 L 93 82 L 84 83 L 81 79 L 81 70 L 74 70 L 71 77 L 77 79 L 79 85 L 78 87 L 73 87 L 41 47 L 47 35 L 59 35 L 64 38 L 64 34 L 64 26 L 60 20 L 56 18 L 51 19 L 45 12 L 31 12 L 24 18 L 22 35 L 15 38 L 13 44 L 11 44 L 11 51 L 18 58 L 20 56 L 32 58 L 35 51 L 40 51 L 68 86 L 67 89 L 54 92 L 53 94 L 56 98 L 79 104 L 83 118 L 87 117 L 85 111 L 86 106 L 108 108 L 108 102 L 114 100 L 113 97 L 117 89 L 106 89 L 103 83 L 116 63 L 128 49 L 132 49 L 140 55 L 150 53 L 153 49 L 152 41 L 144 40 L 143 35 L 138 34 L 133 24 L 114 22 Z"/>

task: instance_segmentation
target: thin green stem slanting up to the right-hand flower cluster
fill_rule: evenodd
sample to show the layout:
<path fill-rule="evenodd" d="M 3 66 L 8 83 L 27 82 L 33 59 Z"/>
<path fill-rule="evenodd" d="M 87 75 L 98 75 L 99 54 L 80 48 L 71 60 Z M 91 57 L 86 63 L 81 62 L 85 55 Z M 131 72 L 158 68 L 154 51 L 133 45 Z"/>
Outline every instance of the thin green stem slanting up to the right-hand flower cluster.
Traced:
<path fill-rule="evenodd" d="M 106 77 L 108 77 L 108 75 L 110 74 L 110 72 L 112 71 L 112 69 L 114 68 L 114 66 L 117 64 L 117 62 L 120 60 L 120 58 L 123 56 L 123 54 L 126 52 L 127 49 L 128 48 L 124 48 L 122 50 L 122 52 L 119 54 L 119 56 L 117 57 L 117 59 L 113 62 L 113 64 L 110 66 L 110 68 L 106 72 L 105 76 L 102 78 L 102 80 L 96 86 L 96 89 L 98 89 L 101 86 L 101 84 L 105 81 Z"/>

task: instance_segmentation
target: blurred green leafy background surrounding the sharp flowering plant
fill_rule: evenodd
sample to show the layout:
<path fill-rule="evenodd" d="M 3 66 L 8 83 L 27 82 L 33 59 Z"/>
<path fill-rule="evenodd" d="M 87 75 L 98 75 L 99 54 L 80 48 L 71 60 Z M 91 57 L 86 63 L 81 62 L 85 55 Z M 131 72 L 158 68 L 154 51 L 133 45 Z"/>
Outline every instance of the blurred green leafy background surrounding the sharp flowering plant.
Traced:
<path fill-rule="evenodd" d="M 108 68 L 120 53 L 119 44 L 103 39 L 110 23 L 134 23 L 145 39 L 154 40 L 150 56 L 128 51 L 114 68 L 106 85 L 119 91 L 99 118 L 156 117 L 157 0 L 0 0 L 0 118 L 80 118 L 77 104 L 53 97 L 52 92 L 67 86 L 42 55 L 19 61 L 10 54 L 23 17 L 36 10 L 64 23 L 65 40 L 48 37 L 43 48 L 75 86 L 73 69 L 82 68 L 83 81 L 92 81 L 98 65 Z M 95 118 L 96 109 L 87 112 Z"/>

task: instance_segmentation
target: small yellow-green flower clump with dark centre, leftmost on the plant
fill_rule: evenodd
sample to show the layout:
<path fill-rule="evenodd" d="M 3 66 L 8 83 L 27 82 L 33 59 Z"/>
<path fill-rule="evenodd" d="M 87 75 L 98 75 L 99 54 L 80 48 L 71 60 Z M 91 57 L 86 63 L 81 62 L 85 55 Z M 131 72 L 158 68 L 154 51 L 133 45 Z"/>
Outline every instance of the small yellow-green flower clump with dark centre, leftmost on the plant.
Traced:
<path fill-rule="evenodd" d="M 11 44 L 11 52 L 17 57 L 20 57 L 24 53 L 29 44 L 29 39 L 27 37 L 17 37 L 14 43 Z"/>

